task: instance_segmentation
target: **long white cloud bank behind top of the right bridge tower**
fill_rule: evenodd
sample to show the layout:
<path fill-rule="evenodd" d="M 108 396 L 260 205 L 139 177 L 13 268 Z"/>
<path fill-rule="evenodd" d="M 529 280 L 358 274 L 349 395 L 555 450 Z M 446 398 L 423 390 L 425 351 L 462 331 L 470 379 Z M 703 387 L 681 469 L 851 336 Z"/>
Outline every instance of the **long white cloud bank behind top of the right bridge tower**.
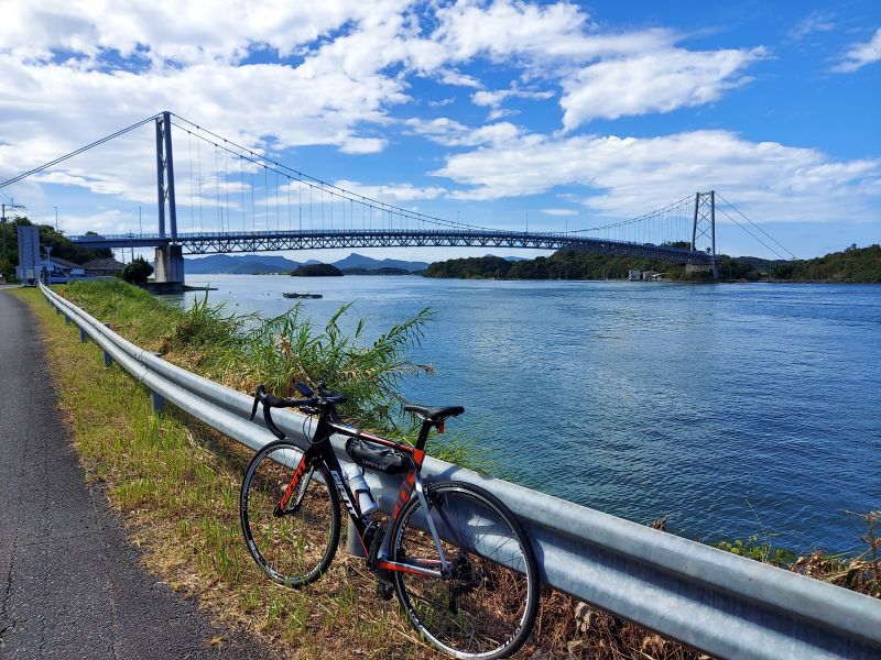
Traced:
<path fill-rule="evenodd" d="M 472 200 L 583 185 L 597 191 L 584 200 L 588 208 L 617 218 L 717 189 L 760 220 L 848 221 L 872 217 L 881 195 L 881 160 L 838 162 L 817 150 L 749 142 L 727 131 L 651 139 L 521 135 L 454 154 L 435 174 L 470 186 L 452 196 Z"/>

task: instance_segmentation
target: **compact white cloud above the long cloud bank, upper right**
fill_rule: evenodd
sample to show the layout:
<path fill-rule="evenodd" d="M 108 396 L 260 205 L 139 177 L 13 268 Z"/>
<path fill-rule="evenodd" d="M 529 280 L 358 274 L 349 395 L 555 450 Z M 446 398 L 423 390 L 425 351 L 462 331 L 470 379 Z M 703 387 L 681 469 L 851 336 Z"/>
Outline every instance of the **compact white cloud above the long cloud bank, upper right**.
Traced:
<path fill-rule="evenodd" d="M 594 64 L 563 82 L 563 124 L 572 130 L 596 118 L 668 112 L 715 101 L 722 91 L 747 82 L 740 73 L 764 55 L 763 48 L 670 48 Z"/>

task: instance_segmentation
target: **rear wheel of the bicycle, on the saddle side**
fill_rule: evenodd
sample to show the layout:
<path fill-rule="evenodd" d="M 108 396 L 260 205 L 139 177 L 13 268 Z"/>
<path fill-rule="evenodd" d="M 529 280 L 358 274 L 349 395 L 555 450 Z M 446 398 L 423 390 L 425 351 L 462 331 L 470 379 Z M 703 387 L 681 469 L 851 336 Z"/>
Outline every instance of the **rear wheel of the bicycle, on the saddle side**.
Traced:
<path fill-rule="evenodd" d="M 539 607 L 535 556 L 520 522 L 496 496 L 471 484 L 426 487 L 428 515 L 448 578 L 394 571 L 413 626 L 455 658 L 502 658 L 529 637 Z M 439 569 L 422 501 L 413 497 L 392 531 L 392 561 Z"/>

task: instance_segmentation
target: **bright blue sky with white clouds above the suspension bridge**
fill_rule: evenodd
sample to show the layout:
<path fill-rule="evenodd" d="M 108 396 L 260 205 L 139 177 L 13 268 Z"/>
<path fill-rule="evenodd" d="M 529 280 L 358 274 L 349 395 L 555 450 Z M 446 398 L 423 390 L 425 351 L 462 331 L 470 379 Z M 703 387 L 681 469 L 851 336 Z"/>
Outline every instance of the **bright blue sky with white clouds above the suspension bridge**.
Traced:
<path fill-rule="evenodd" d="M 0 182 L 171 110 L 472 224 L 589 228 L 715 189 L 798 257 L 881 240 L 877 0 L 0 0 Z M 173 139 L 182 163 L 196 146 Z M 11 199 L 69 234 L 155 231 L 153 127 L 0 188 Z M 774 256 L 724 218 L 717 242 Z"/>

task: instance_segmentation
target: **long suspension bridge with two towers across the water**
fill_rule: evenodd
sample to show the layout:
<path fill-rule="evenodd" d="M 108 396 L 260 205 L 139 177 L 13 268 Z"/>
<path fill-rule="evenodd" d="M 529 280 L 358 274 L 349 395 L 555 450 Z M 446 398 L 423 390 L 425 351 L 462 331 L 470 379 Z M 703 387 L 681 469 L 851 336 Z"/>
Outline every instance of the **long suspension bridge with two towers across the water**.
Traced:
<path fill-rule="evenodd" d="M 715 191 L 601 227 L 504 231 L 428 216 L 314 178 L 168 111 L 22 173 L 0 190 L 150 123 L 155 125 L 157 230 L 69 238 L 95 249 L 154 248 L 156 282 L 183 284 L 184 254 L 393 246 L 579 250 L 685 263 L 718 276 Z"/>

